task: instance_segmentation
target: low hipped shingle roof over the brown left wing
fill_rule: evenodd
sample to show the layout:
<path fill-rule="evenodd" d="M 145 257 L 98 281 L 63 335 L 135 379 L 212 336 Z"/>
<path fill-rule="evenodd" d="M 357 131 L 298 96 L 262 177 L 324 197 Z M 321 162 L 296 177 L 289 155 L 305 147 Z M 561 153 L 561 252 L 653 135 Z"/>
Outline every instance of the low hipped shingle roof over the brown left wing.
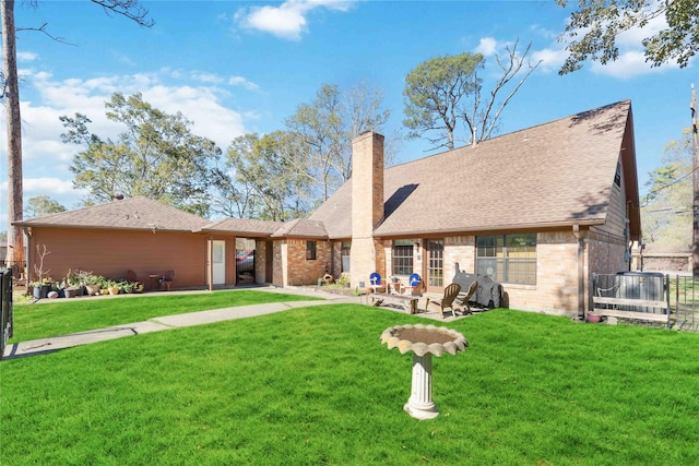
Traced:
<path fill-rule="evenodd" d="M 210 222 L 158 201 L 138 196 L 60 212 L 13 225 L 25 227 L 108 228 L 158 231 L 192 231 Z"/>

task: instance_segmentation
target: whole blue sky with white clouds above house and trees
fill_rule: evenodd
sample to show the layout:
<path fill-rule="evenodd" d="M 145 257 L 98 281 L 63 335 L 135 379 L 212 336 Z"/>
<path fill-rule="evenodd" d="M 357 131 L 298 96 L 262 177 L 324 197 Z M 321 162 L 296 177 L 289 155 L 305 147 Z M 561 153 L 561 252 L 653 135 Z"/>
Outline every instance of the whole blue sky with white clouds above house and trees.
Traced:
<path fill-rule="evenodd" d="M 106 120 L 111 94 L 135 92 L 164 111 L 181 111 L 192 131 L 218 143 L 245 133 L 284 128 L 296 107 L 321 85 L 346 88 L 366 82 L 383 93 L 391 110 L 387 135 L 401 130 L 405 74 L 438 55 L 483 52 L 488 70 L 495 52 L 520 40 L 543 60 L 508 105 L 499 134 L 631 99 L 638 174 L 661 165 L 663 147 L 688 127 L 690 84 L 686 69 L 652 69 L 643 60 L 636 31 L 620 37 L 612 65 L 585 63 L 557 74 L 566 52 L 557 40 L 569 10 L 554 1 L 144 1 L 155 20 L 142 28 L 83 1 L 44 1 L 37 9 L 17 2 L 19 28 L 38 27 L 17 38 L 23 118 L 24 200 L 48 195 L 67 208 L 79 205 L 68 166 L 78 146 L 60 142 L 58 118 L 75 112 L 93 120 L 92 131 L 114 138 L 122 128 Z M 651 24 L 652 29 L 657 24 Z M 486 83 L 486 87 L 488 83 Z M 0 129 L 0 195 L 7 199 L 7 133 Z M 398 163 L 434 152 L 422 141 L 403 143 Z M 1 202 L 0 225 L 7 223 Z M 4 227 L 0 227 L 4 229 Z"/>

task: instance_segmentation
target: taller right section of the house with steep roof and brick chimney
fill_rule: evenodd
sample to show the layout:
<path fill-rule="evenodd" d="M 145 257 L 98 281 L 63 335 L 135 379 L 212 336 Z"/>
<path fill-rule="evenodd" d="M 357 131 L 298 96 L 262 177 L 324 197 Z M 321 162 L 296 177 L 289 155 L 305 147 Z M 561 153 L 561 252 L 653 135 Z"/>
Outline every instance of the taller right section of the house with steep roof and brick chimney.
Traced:
<path fill-rule="evenodd" d="M 335 254 L 351 243 L 352 286 L 415 272 L 440 292 L 465 271 L 502 283 L 512 308 L 578 313 L 592 273 L 630 268 L 641 225 L 629 100 L 388 169 L 382 144 L 353 142 L 352 179 L 310 217 Z"/>

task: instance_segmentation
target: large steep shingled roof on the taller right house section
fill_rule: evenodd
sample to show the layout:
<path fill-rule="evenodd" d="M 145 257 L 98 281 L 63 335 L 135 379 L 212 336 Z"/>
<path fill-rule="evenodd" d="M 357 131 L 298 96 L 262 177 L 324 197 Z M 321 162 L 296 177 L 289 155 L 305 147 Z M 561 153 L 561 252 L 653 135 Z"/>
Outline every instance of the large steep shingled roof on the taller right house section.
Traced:
<path fill-rule="evenodd" d="M 382 237 L 603 224 L 623 147 L 625 100 L 384 170 Z M 630 127 L 629 127 L 630 128 Z M 638 205 L 635 170 L 627 195 Z M 632 178 L 632 179 L 628 179 Z M 352 236 L 352 179 L 310 219 Z M 640 228 L 640 227 L 639 227 Z"/>

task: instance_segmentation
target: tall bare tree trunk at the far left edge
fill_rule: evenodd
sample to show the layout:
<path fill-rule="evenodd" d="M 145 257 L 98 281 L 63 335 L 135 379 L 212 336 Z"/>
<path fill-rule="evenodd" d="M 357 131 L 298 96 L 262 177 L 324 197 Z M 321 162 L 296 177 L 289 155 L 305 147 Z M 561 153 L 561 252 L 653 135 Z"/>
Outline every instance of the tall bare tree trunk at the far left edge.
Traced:
<path fill-rule="evenodd" d="M 4 99 L 8 120 L 8 266 L 24 263 L 24 234 L 12 226 L 22 219 L 22 119 L 14 28 L 14 0 L 0 2 L 2 16 L 2 50 L 4 68 Z M 27 277 L 28 278 L 28 277 Z"/>

